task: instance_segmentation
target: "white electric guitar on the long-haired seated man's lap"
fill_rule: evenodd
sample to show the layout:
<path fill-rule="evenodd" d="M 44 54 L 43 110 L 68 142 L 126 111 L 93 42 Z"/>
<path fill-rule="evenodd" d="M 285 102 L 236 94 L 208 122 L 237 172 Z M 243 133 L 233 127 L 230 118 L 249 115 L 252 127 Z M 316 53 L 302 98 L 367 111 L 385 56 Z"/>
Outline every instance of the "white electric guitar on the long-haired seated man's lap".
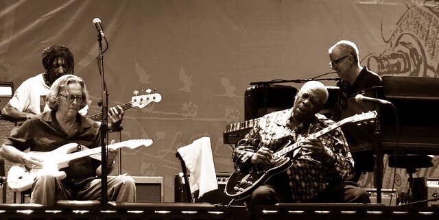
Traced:
<path fill-rule="evenodd" d="M 107 145 L 110 149 L 119 149 L 121 147 L 129 147 L 130 149 L 135 149 L 137 147 L 145 146 L 149 147 L 152 145 L 151 139 L 140 139 L 140 140 L 127 140 L 112 145 Z M 14 192 L 22 192 L 32 187 L 32 183 L 40 175 L 50 174 L 54 175 L 60 180 L 66 178 L 66 173 L 60 171 L 64 167 L 69 167 L 69 162 L 78 158 L 83 158 L 86 156 L 91 156 L 93 154 L 101 153 L 102 147 L 95 147 L 92 149 L 85 149 L 83 151 L 78 151 L 77 143 L 69 143 L 67 145 L 62 145 L 53 151 L 29 151 L 26 154 L 31 156 L 36 156 L 43 160 L 43 168 L 32 169 L 26 167 L 21 163 L 13 163 L 11 169 L 8 173 L 8 186 Z M 75 152 L 77 151 L 77 152 Z M 72 153 L 73 152 L 73 153 Z"/>

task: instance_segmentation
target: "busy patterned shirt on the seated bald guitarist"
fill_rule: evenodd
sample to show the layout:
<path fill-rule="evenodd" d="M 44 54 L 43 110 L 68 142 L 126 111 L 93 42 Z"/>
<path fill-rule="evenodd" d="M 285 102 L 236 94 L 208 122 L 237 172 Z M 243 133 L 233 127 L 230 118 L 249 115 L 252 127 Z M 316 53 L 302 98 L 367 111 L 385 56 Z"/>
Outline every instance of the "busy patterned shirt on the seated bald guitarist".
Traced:
<path fill-rule="evenodd" d="M 233 151 L 235 165 L 241 171 L 250 171 L 255 168 L 250 158 L 259 148 L 268 147 L 276 151 L 286 140 L 296 143 L 300 138 L 314 134 L 334 122 L 322 114 L 316 114 L 311 121 L 300 123 L 296 127 L 292 123 L 292 108 L 266 114 L 239 141 L 238 147 Z M 327 149 L 326 155 L 316 158 L 302 155 L 299 151 L 292 167 L 287 170 L 294 202 L 309 202 L 332 182 L 348 180 L 353 176 L 354 161 L 340 127 L 320 136 L 319 140 Z"/>

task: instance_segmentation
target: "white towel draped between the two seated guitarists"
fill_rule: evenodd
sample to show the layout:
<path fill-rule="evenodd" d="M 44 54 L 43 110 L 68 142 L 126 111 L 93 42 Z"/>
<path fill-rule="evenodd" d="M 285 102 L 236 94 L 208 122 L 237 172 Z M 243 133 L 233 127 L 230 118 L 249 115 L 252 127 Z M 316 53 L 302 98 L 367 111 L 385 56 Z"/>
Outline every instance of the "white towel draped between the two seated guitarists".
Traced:
<path fill-rule="evenodd" d="M 190 145 L 178 148 L 177 151 L 185 161 L 187 169 L 191 171 L 191 178 L 189 178 L 191 193 L 200 189 L 198 195 L 200 198 L 204 193 L 218 188 L 213 165 L 211 138 L 200 138 Z"/>

